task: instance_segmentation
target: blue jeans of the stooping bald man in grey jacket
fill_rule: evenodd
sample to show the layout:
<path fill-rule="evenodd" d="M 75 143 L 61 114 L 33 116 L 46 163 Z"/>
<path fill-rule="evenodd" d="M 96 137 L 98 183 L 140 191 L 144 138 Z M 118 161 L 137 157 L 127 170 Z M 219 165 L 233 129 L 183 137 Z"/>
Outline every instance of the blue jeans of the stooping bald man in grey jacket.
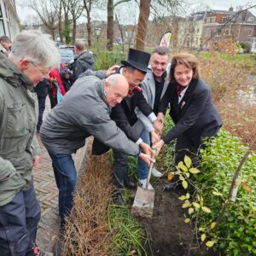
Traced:
<path fill-rule="evenodd" d="M 73 193 L 77 183 L 77 171 L 71 154 L 56 154 L 49 151 L 55 173 L 55 181 L 59 189 L 59 213 L 61 224 L 73 207 Z"/>

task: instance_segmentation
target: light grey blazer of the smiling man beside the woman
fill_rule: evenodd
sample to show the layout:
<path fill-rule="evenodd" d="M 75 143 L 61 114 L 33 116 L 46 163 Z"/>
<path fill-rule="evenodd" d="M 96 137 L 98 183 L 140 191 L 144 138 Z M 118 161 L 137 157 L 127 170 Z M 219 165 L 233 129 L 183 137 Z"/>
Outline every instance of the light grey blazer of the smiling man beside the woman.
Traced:
<path fill-rule="evenodd" d="M 162 90 L 160 99 L 165 95 L 166 89 L 168 87 L 169 82 L 166 80 L 164 84 L 164 88 Z M 153 109 L 154 108 L 154 97 L 155 97 L 155 82 L 154 82 L 154 75 L 152 72 L 148 72 L 143 80 L 141 85 L 143 89 L 143 96 L 145 97 L 146 101 L 148 102 L 149 106 Z M 139 108 L 136 108 L 136 113 L 138 117 L 138 121 L 136 125 L 143 126 L 147 131 L 153 131 L 154 126 L 150 122 L 148 123 L 148 117 L 146 117 Z"/>

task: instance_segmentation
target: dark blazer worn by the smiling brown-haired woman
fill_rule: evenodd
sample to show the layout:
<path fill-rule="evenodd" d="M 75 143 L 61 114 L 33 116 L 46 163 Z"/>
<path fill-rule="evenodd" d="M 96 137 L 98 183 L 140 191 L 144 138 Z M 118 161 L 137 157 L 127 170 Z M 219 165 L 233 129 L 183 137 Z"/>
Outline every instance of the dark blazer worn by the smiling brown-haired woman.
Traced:
<path fill-rule="evenodd" d="M 170 83 L 159 108 L 159 112 L 166 113 L 170 103 L 170 115 L 175 123 L 163 137 L 165 143 L 170 143 L 186 133 L 196 145 L 200 145 L 203 137 L 212 136 L 214 129 L 218 131 L 222 121 L 218 110 L 212 104 L 211 90 L 205 81 L 192 80 L 180 103 L 177 103 L 177 97 L 177 84 Z"/>

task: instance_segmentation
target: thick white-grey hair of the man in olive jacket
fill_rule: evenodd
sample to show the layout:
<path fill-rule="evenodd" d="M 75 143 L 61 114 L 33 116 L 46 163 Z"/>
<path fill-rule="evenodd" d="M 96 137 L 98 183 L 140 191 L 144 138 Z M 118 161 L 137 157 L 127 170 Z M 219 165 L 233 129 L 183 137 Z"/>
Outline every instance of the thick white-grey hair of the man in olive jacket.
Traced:
<path fill-rule="evenodd" d="M 47 69 L 59 67 L 61 63 L 55 42 L 38 30 L 20 32 L 14 40 L 9 58 L 14 61 L 26 58 Z"/>

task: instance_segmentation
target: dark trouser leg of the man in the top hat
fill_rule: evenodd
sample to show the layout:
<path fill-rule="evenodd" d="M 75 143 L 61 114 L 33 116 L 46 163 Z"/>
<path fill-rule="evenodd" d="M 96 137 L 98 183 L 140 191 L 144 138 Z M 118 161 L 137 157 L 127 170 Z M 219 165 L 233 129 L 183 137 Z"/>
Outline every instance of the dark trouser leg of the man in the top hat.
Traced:
<path fill-rule="evenodd" d="M 127 154 L 113 150 L 113 185 L 116 192 L 124 189 L 125 178 L 127 177 L 128 159 Z"/>

